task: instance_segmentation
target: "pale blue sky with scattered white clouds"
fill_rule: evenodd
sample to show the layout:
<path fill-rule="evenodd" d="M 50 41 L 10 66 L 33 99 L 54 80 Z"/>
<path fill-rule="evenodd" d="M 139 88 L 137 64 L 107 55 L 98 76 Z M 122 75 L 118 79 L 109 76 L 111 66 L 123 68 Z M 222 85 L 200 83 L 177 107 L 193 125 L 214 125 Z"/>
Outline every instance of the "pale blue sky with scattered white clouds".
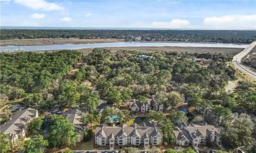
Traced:
<path fill-rule="evenodd" d="M 256 29 L 256 1 L 1 0 L 1 26 Z"/>

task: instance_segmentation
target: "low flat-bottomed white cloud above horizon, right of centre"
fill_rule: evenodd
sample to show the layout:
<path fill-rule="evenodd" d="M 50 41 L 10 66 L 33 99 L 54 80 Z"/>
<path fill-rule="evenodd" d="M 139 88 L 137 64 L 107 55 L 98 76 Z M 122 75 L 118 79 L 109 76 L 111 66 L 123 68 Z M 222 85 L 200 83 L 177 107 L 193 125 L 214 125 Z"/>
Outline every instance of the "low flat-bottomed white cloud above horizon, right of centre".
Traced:
<path fill-rule="evenodd" d="M 151 24 L 155 28 L 188 28 L 191 26 L 188 20 L 173 19 L 171 22 L 156 22 Z"/>

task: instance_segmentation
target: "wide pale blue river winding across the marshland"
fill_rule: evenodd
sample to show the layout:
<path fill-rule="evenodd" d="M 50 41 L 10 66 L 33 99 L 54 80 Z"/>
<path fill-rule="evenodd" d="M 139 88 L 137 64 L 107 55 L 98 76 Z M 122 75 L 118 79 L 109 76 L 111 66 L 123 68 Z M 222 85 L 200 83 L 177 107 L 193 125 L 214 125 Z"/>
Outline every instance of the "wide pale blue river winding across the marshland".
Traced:
<path fill-rule="evenodd" d="M 101 48 L 101 47 L 139 47 L 139 46 L 181 46 L 181 47 L 225 47 L 225 48 L 246 48 L 248 45 L 221 44 L 221 43 L 164 43 L 164 42 L 115 42 L 99 44 L 57 44 L 39 46 L 21 46 L 25 51 L 45 51 L 59 49 L 82 49 L 82 48 Z M 19 46 L 1 46 L 2 49 L 15 50 Z"/>

